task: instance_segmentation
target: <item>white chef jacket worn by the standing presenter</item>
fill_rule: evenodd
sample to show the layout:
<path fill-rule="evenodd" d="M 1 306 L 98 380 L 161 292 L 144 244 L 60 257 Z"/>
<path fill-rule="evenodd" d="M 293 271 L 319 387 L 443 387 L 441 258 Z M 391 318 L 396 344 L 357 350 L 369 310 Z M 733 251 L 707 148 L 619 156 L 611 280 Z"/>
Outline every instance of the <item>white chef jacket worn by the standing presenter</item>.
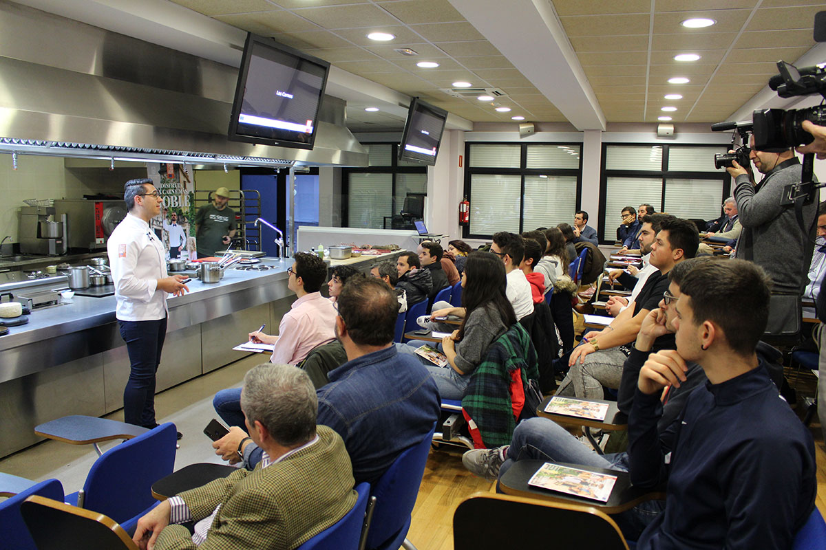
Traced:
<path fill-rule="evenodd" d="M 107 242 L 120 321 L 157 321 L 167 314 L 166 295 L 157 289 L 167 277 L 164 243 L 149 223 L 133 214 L 117 224 Z"/>

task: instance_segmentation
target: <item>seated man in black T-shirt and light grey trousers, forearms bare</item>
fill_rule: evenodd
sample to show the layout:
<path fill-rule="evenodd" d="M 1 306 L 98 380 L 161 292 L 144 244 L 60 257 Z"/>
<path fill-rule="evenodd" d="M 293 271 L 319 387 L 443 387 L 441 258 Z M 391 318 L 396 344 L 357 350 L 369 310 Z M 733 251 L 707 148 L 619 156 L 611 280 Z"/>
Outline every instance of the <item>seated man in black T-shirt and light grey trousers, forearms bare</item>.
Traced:
<path fill-rule="evenodd" d="M 557 395 L 602 399 L 602 387 L 619 388 L 622 365 L 630 353 L 629 346 L 637 337 L 643 319 L 657 308 L 668 289 L 668 271 L 681 261 L 694 257 L 700 239 L 694 223 L 686 219 L 665 219 L 660 224 L 657 240 L 651 247 L 651 263 L 657 272 L 648 276 L 637 299 L 619 313 L 602 331 L 588 332 L 582 343 L 572 350 L 568 373 L 559 384 Z M 632 305 L 633 304 L 633 305 Z M 674 336 L 664 334 L 654 342 L 653 349 L 673 346 Z"/>

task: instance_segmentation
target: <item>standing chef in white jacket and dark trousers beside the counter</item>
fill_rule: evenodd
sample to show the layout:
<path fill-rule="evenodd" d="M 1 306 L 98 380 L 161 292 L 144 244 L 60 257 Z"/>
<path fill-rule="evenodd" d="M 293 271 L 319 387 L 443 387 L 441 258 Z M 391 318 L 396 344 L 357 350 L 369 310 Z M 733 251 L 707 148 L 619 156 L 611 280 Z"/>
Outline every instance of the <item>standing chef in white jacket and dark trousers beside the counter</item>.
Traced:
<path fill-rule="evenodd" d="M 115 282 L 116 317 L 131 370 L 123 392 L 124 421 L 153 428 L 155 372 L 166 336 L 167 294 L 188 292 L 183 275 L 166 272 L 164 243 L 150 229 L 162 199 L 150 179 L 130 180 L 123 199 L 129 214 L 107 243 Z M 178 434 L 180 436 L 180 434 Z"/>

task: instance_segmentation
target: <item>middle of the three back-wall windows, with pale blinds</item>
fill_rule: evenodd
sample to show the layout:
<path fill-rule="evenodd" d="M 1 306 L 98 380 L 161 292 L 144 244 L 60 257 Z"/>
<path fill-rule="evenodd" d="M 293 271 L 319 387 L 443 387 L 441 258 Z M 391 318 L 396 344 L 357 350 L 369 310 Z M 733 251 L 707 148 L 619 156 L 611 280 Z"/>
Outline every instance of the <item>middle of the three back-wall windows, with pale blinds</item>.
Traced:
<path fill-rule="evenodd" d="M 464 237 L 570 222 L 582 178 L 579 143 L 467 143 Z"/>

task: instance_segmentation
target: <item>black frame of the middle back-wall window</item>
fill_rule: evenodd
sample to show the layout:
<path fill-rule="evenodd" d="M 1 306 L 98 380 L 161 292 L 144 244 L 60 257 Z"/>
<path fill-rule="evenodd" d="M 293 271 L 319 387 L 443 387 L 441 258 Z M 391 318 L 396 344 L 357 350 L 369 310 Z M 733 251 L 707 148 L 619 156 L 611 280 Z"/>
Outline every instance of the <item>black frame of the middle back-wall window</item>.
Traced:
<path fill-rule="evenodd" d="M 514 145 L 520 146 L 520 167 L 519 168 L 474 168 L 471 167 L 471 153 L 472 145 Z M 577 168 L 526 168 L 528 163 L 528 146 L 529 145 L 576 145 L 579 148 L 579 167 Z M 582 142 L 578 141 L 542 141 L 530 143 L 515 143 L 512 141 L 466 141 L 465 142 L 465 169 L 464 169 L 464 186 L 463 196 L 470 200 L 471 195 L 471 178 L 474 175 L 491 175 L 491 176 L 520 176 L 520 214 L 519 214 L 519 233 L 524 233 L 534 228 L 525 229 L 525 176 L 576 176 L 577 177 L 577 199 L 576 209 L 581 208 L 582 204 Z M 472 207 L 472 204 L 471 204 Z M 573 213 L 571 213 L 573 215 Z M 472 214 L 471 214 L 472 215 Z M 470 233 L 470 223 L 462 226 L 462 237 L 472 239 L 487 239 L 490 240 L 493 235 L 486 235 L 482 233 Z"/>

